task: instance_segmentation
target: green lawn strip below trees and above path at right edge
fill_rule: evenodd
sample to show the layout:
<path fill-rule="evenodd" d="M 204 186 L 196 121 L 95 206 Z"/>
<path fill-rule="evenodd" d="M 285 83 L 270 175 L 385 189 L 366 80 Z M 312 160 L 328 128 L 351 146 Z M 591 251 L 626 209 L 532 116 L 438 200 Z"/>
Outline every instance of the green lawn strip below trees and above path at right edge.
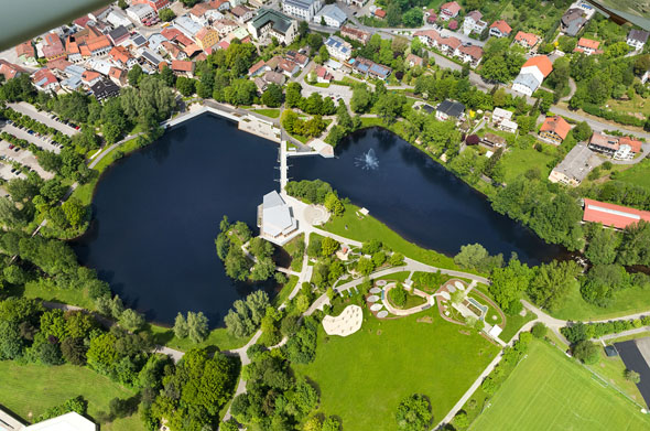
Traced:
<path fill-rule="evenodd" d="M 583 299 L 576 281 L 563 304 L 561 309 L 548 311 L 549 314 L 557 319 L 573 321 L 613 319 L 650 309 L 650 292 L 640 288 L 620 290 L 614 293 L 609 306 L 602 308 L 589 304 Z"/>

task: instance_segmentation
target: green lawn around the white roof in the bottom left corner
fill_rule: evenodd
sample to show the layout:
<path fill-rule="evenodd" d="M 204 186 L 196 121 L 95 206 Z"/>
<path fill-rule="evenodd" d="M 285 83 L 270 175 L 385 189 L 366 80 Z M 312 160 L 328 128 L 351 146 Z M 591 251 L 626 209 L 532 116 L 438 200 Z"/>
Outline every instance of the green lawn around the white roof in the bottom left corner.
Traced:
<path fill-rule="evenodd" d="M 91 418 L 100 411 L 108 411 L 111 399 L 126 399 L 134 395 L 107 377 L 74 365 L 47 367 L 3 360 L 0 362 L 0 405 L 28 421 L 79 395 L 88 401 L 88 414 Z M 144 425 L 136 413 L 112 423 L 102 423 L 101 430 L 138 431 L 144 430 Z"/>

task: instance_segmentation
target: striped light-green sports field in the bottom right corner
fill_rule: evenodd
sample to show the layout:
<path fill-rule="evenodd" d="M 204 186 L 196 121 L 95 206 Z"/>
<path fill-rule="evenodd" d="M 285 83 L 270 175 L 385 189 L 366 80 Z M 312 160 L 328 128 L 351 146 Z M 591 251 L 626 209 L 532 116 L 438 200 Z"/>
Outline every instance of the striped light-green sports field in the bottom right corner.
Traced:
<path fill-rule="evenodd" d="M 650 417 L 631 401 L 538 341 L 470 427 L 476 431 L 648 429 Z"/>

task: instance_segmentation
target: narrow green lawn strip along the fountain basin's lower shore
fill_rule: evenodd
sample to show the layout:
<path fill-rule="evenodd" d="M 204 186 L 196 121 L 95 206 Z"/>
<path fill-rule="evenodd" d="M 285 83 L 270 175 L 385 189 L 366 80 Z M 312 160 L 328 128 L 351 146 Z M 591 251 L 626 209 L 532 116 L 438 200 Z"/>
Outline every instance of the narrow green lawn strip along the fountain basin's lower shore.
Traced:
<path fill-rule="evenodd" d="M 391 250 L 401 252 L 412 259 L 440 268 L 458 269 L 456 263 L 454 263 L 454 259 L 451 257 L 433 250 L 426 250 L 413 243 L 407 241 L 383 223 L 372 217 L 372 215 L 359 218 L 356 214 L 359 209 L 358 206 L 348 204 L 345 208 L 343 216 L 332 218 L 323 228 L 358 241 L 379 239 Z"/>

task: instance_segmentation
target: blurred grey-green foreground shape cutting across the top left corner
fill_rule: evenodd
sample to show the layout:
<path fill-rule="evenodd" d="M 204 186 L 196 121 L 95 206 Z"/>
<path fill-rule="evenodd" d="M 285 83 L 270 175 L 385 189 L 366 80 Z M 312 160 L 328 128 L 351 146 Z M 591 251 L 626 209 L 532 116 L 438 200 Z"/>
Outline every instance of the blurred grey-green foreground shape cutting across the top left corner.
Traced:
<path fill-rule="evenodd" d="M 4 0 L 0 14 L 0 50 L 35 37 L 97 10 L 110 0 Z"/>

